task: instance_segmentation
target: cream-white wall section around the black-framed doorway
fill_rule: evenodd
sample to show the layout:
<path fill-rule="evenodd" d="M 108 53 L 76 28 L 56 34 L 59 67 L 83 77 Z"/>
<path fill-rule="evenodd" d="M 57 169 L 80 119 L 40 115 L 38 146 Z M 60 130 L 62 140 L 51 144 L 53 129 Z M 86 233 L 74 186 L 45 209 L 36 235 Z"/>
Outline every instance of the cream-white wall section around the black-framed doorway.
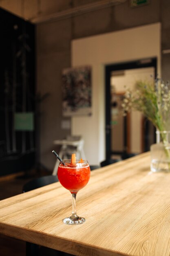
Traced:
<path fill-rule="evenodd" d="M 72 66 L 92 66 L 91 117 L 73 117 L 73 135 L 82 135 L 86 159 L 99 164 L 105 159 L 104 66 L 142 58 L 157 57 L 160 74 L 160 23 L 73 40 Z"/>

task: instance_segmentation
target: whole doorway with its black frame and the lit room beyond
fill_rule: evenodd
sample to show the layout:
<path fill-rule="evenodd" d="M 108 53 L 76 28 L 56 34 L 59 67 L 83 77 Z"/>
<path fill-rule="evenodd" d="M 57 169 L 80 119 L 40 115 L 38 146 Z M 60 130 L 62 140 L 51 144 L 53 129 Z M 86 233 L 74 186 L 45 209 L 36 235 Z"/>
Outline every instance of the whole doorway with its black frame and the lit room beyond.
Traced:
<path fill-rule="evenodd" d="M 154 80 L 156 74 L 156 58 L 106 65 L 106 159 L 148 151 L 155 142 L 151 122 L 137 111 L 123 117 L 121 103 L 124 85 L 132 89 L 137 81 Z"/>

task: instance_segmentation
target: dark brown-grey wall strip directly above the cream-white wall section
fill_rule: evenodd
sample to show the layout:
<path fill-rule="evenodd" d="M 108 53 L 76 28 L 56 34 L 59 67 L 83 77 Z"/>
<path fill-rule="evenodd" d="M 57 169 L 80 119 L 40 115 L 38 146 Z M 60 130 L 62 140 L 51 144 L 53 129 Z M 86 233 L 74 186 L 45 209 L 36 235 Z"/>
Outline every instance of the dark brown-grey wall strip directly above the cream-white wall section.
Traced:
<path fill-rule="evenodd" d="M 121 4 L 77 15 L 73 18 L 72 39 L 159 22 L 161 1 L 150 0 L 149 4 L 130 7 L 130 1 L 127 0 Z M 86 1 L 74 0 L 74 7 L 83 3 Z"/>

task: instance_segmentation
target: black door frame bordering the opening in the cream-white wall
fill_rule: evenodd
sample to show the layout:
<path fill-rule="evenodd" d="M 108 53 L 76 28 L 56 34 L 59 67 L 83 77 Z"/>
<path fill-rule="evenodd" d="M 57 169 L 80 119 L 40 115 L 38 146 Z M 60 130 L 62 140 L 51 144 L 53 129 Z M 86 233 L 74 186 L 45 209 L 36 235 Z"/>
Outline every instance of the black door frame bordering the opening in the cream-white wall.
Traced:
<path fill-rule="evenodd" d="M 105 134 L 106 134 L 106 159 L 110 159 L 111 155 L 111 128 L 110 128 L 110 100 L 111 100 L 111 91 L 110 91 L 110 75 L 113 71 L 118 70 L 130 70 L 137 69 L 142 67 L 154 67 L 155 68 L 155 78 L 157 76 L 157 58 L 147 58 L 136 61 L 124 62 L 124 63 L 116 63 L 105 66 L 105 97 L 106 97 L 106 106 L 105 106 Z M 126 120 L 125 120 L 126 123 Z M 145 132 L 145 148 L 144 151 L 148 150 L 148 127 L 146 122 L 146 132 Z M 126 135 L 125 135 L 126 136 Z M 125 139 L 126 140 L 126 139 Z"/>

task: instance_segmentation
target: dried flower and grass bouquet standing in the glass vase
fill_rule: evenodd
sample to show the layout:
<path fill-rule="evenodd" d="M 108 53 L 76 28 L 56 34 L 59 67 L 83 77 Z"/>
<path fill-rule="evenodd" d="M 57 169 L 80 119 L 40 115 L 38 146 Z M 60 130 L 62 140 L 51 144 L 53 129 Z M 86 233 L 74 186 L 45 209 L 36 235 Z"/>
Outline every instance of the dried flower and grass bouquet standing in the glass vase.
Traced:
<path fill-rule="evenodd" d="M 170 83 L 157 78 L 153 83 L 138 81 L 135 90 L 127 89 L 122 103 L 124 114 L 140 111 L 160 132 L 170 163 L 170 147 L 166 131 L 170 130 Z M 170 167 L 170 164 L 169 164 Z"/>

